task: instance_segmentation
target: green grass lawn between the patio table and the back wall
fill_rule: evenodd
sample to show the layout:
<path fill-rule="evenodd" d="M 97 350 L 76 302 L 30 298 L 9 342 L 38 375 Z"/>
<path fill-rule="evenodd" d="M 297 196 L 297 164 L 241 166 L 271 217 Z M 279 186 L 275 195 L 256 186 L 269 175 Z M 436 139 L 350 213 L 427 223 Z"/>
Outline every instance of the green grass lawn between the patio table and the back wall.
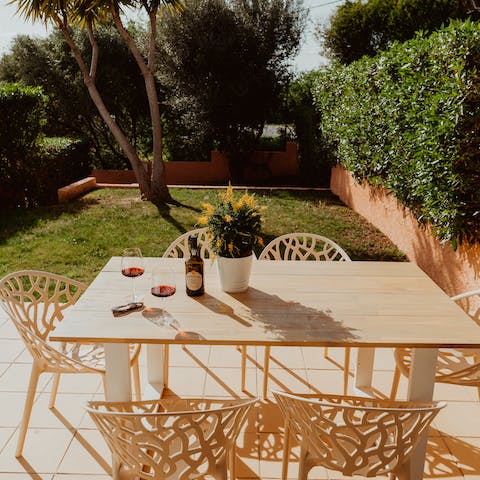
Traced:
<path fill-rule="evenodd" d="M 0 277 L 38 269 L 90 282 L 112 255 L 138 246 L 161 256 L 181 233 L 195 228 L 202 202 L 218 190 L 171 189 L 181 206 L 159 211 L 138 190 L 96 190 L 66 205 L 7 210 L 0 216 Z M 353 260 L 406 260 L 363 217 L 329 192 L 255 193 L 264 213 L 264 241 L 289 232 L 313 232 L 340 244 Z M 259 253 L 259 252 L 257 252 Z"/>

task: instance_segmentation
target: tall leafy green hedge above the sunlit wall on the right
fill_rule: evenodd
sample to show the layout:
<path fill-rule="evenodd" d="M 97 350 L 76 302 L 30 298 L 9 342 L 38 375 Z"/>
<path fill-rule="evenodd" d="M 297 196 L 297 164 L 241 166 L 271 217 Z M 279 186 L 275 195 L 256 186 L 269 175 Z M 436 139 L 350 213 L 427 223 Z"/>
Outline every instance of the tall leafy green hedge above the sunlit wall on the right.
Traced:
<path fill-rule="evenodd" d="M 453 22 L 316 75 L 323 134 L 442 241 L 480 240 L 480 25 Z"/>

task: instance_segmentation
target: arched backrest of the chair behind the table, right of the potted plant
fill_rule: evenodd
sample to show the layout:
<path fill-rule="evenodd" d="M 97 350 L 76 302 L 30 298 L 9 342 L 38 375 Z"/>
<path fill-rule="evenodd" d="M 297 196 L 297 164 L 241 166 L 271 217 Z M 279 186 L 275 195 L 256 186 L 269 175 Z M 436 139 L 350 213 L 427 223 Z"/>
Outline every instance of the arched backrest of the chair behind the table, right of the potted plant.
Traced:
<path fill-rule="evenodd" d="M 315 233 L 287 233 L 273 239 L 259 260 L 349 261 L 340 245 Z"/>

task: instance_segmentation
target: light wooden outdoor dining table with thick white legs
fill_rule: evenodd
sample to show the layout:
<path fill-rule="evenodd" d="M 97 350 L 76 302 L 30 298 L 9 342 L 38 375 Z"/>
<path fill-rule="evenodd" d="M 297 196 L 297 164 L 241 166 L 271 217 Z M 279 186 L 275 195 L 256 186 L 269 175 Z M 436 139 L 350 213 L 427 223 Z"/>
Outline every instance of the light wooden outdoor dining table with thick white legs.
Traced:
<path fill-rule="evenodd" d="M 164 385 L 165 344 L 361 347 L 355 388 L 367 393 L 375 348 L 413 347 L 412 401 L 432 399 L 438 348 L 480 347 L 480 328 L 413 263 L 254 261 L 248 290 L 225 293 L 215 264 L 205 260 L 206 293 L 188 297 L 183 259 L 146 258 L 137 284 L 146 307 L 161 307 L 147 288 L 149 272 L 167 265 L 177 273 L 177 292 L 166 302 L 170 326 L 155 325 L 145 310 L 113 316 L 111 308 L 126 303 L 131 292 L 120 265 L 120 257 L 108 261 L 50 338 L 105 344 L 111 401 L 131 399 L 130 343 L 146 344 L 156 395 Z M 412 457 L 412 480 L 423 476 L 426 440 Z"/>

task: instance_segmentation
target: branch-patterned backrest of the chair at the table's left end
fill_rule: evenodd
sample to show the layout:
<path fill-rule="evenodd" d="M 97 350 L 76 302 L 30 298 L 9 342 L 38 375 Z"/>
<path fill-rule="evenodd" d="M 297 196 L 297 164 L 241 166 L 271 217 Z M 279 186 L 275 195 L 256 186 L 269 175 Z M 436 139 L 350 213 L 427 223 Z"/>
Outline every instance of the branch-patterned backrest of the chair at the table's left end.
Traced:
<path fill-rule="evenodd" d="M 86 286 L 61 275 L 22 270 L 0 280 L 0 300 L 10 318 L 42 340 L 47 340 L 63 311 L 72 306 Z"/>

